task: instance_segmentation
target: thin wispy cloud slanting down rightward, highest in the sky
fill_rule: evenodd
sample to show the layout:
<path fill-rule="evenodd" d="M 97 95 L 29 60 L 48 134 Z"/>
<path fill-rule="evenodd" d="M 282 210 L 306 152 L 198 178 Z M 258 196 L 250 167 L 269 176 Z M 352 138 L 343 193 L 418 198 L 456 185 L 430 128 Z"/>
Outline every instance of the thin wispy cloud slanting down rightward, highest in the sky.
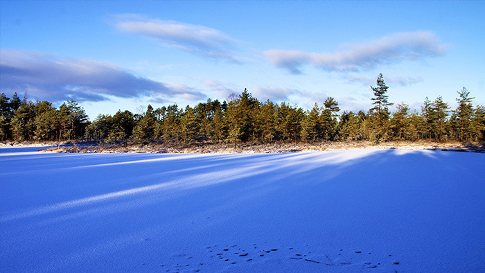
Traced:
<path fill-rule="evenodd" d="M 123 32 L 157 39 L 164 46 L 207 58 L 240 62 L 234 52 L 238 41 L 207 26 L 150 19 L 141 15 L 118 15 L 114 26 Z"/>

